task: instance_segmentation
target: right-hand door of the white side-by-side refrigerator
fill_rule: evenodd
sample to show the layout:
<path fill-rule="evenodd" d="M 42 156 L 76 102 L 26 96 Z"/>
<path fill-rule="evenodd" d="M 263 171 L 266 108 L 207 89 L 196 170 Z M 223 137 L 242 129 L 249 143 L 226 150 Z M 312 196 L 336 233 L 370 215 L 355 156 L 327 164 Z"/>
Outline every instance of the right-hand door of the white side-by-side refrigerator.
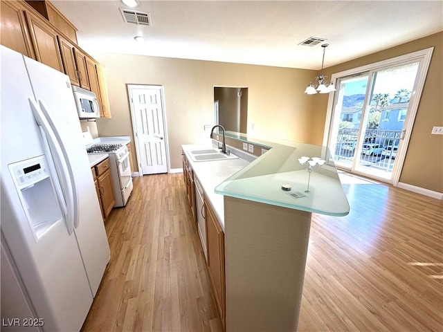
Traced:
<path fill-rule="evenodd" d="M 89 158 L 83 145 L 82 128 L 69 77 L 39 62 L 25 57 L 35 98 L 46 113 L 69 168 L 71 183 L 76 193 L 74 234 L 80 248 L 84 268 L 93 296 L 105 273 L 110 250 L 98 205 Z"/>

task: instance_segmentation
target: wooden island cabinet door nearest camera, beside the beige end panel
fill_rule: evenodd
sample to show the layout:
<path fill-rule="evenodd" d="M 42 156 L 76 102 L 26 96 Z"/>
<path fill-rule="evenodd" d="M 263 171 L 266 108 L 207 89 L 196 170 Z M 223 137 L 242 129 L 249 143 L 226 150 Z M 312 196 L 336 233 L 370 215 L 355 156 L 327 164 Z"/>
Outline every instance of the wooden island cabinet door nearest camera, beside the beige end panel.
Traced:
<path fill-rule="evenodd" d="M 205 200 L 206 212 L 206 248 L 208 250 L 208 271 L 220 319 L 225 327 L 225 271 L 224 271 L 224 232 L 208 201 Z"/>

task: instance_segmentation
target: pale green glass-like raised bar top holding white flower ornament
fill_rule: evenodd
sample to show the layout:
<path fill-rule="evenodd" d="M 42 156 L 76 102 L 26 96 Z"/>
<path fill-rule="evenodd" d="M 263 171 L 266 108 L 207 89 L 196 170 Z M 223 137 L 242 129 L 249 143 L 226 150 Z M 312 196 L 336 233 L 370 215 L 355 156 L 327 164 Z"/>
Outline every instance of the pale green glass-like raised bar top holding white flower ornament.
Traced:
<path fill-rule="evenodd" d="M 255 140 L 242 133 L 226 131 L 226 138 L 272 147 L 265 154 L 215 187 L 217 194 L 332 216 L 345 216 L 350 206 L 341 186 L 334 160 L 327 147 L 300 142 Z M 325 160 L 309 172 L 301 157 Z M 282 190 L 290 185 L 290 191 Z"/>

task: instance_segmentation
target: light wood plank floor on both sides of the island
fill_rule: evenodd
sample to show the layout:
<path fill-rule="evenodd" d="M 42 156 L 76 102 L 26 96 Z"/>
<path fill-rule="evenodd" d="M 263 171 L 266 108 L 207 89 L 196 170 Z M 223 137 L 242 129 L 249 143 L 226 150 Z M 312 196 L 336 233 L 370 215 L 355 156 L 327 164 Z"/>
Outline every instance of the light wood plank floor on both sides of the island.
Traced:
<path fill-rule="evenodd" d="M 298 330 L 443 331 L 442 201 L 343 183 L 350 214 L 313 214 Z M 83 332 L 221 331 L 182 174 L 134 178 L 106 228 L 111 261 Z"/>

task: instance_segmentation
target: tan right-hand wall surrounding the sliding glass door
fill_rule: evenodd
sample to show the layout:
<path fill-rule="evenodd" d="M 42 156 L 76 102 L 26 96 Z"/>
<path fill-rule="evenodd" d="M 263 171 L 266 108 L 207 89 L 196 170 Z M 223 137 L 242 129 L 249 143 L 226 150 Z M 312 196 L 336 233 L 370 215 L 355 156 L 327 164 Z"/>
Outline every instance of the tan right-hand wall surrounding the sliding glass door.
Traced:
<path fill-rule="evenodd" d="M 431 64 L 417 109 L 400 182 L 443 192 L 443 135 L 431 135 L 433 126 L 443 126 L 443 32 L 389 48 L 325 70 L 325 75 L 379 62 L 424 48 L 434 47 Z M 321 144 L 327 96 L 315 95 L 311 141 Z"/>

